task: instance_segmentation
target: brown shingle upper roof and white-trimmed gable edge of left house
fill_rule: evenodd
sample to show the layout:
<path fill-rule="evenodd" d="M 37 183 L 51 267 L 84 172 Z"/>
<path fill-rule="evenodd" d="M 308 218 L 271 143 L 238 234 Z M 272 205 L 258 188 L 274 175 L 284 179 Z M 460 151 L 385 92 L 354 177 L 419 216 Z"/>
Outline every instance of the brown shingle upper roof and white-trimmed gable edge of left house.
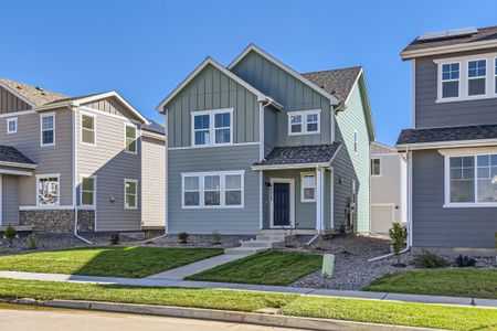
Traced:
<path fill-rule="evenodd" d="M 0 77 L 0 86 L 4 87 L 10 93 L 28 103 L 31 107 L 33 107 L 34 110 L 45 110 L 62 106 L 81 106 L 85 103 L 91 103 L 107 97 L 115 97 L 136 118 L 138 118 L 144 124 L 148 124 L 148 120 L 115 90 L 70 97 L 41 87 L 7 79 L 3 77 Z"/>

